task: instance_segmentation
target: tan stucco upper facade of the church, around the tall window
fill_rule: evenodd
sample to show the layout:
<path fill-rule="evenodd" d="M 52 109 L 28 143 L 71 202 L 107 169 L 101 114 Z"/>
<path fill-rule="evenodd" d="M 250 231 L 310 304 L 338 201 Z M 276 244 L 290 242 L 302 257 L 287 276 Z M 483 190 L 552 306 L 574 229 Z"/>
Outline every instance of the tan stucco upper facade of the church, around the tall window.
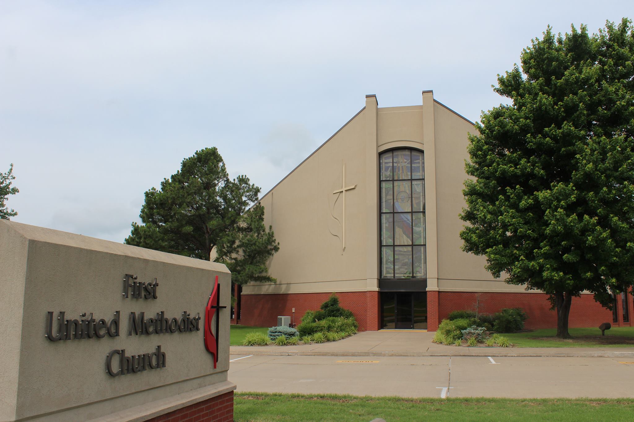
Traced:
<path fill-rule="evenodd" d="M 424 151 L 427 290 L 523 291 L 493 278 L 483 257 L 461 249 L 470 132 L 473 123 L 431 91 L 418 106 L 379 108 L 375 96 L 366 96 L 356 116 L 262 197 L 265 223 L 280 242 L 269 263 L 278 281 L 247 285 L 242 294 L 378 290 L 378 160 L 395 148 Z M 344 219 L 342 193 L 333 192 L 353 185 Z"/>

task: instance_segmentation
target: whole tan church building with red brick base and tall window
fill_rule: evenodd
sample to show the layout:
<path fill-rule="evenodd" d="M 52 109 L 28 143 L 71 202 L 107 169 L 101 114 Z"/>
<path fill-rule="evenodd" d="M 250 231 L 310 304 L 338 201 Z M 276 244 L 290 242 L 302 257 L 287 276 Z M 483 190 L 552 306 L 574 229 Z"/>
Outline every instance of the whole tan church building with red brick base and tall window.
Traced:
<path fill-rule="evenodd" d="M 333 292 L 359 330 L 435 331 L 454 310 L 522 307 L 527 328 L 557 326 L 547 295 L 508 285 L 461 249 L 458 214 L 472 121 L 422 92 L 422 105 L 365 106 L 261 199 L 280 251 L 273 284 L 238 295 L 233 323 L 298 325 Z M 623 298 L 625 300 L 623 300 Z M 569 324 L 630 325 L 631 295 L 614 312 L 592 294 L 573 299 Z"/>

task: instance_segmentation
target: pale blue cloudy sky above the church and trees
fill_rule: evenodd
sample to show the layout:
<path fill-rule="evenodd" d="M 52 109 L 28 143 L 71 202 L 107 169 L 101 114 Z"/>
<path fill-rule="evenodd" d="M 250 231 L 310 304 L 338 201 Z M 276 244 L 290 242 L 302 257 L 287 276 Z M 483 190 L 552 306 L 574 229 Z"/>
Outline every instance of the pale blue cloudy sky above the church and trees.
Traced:
<path fill-rule="evenodd" d="M 14 221 L 122 242 L 144 192 L 215 146 L 271 189 L 376 94 L 472 121 L 547 25 L 631 1 L 0 0 L 0 171 Z"/>

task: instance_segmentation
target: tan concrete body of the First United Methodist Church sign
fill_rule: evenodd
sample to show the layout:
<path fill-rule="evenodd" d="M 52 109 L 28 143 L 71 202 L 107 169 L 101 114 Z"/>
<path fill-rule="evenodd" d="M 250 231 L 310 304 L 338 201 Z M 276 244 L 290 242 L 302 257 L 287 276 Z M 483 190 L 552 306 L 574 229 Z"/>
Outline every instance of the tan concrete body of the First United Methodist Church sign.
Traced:
<path fill-rule="evenodd" d="M 157 297 L 124 297 L 126 273 L 139 282 L 157 278 Z M 220 312 L 216 369 L 204 345 L 215 276 L 220 302 L 228 305 L 231 275 L 223 264 L 0 220 L 0 421 L 145 420 L 232 391 L 229 309 Z M 107 321 L 119 311 L 120 335 L 53 342 L 46 337 L 48 320 L 57 320 L 48 313 L 60 311 L 64 318 L 93 313 Z M 129 335 L 131 312 L 148 317 L 160 311 L 169 318 L 199 315 L 200 330 Z M 107 373 L 113 350 L 130 356 L 158 345 L 164 368 Z"/>

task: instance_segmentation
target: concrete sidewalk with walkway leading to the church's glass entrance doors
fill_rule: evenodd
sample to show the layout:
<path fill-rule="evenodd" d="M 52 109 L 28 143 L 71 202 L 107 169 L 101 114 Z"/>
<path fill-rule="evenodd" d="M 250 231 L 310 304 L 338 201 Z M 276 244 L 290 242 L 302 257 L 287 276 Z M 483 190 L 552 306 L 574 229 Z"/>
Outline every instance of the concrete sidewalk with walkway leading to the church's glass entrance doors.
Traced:
<path fill-rule="evenodd" d="M 433 332 L 367 331 L 322 344 L 231 346 L 232 355 L 266 356 L 549 356 L 629 357 L 634 347 L 456 347 L 432 343 Z"/>

